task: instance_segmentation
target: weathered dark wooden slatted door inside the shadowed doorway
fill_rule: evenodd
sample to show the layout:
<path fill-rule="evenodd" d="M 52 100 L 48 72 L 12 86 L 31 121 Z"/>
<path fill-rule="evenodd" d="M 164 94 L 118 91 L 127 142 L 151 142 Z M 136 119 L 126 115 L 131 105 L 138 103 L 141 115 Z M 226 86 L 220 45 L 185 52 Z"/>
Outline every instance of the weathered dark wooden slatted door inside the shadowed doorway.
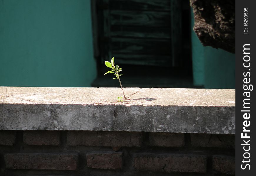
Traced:
<path fill-rule="evenodd" d="M 180 0 L 98 0 L 102 61 L 177 66 L 181 52 Z"/>

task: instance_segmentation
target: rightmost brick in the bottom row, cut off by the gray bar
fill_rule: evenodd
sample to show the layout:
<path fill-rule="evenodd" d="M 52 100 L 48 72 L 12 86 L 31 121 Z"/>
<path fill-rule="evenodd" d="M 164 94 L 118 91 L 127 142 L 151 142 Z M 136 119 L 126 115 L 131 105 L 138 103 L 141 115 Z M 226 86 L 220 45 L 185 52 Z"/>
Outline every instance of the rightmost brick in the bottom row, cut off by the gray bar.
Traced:
<path fill-rule="evenodd" d="M 213 156 L 212 168 L 217 173 L 235 175 L 235 157 Z"/>

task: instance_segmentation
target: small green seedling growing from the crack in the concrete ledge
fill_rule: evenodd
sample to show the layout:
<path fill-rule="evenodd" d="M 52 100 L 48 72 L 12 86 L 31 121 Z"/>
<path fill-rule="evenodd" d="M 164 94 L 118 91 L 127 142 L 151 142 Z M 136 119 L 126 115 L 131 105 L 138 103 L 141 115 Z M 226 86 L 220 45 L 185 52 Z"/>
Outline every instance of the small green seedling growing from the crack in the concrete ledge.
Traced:
<path fill-rule="evenodd" d="M 108 74 L 108 73 L 113 73 L 116 77 L 115 78 L 113 78 L 113 79 L 118 79 L 119 80 L 119 83 L 120 83 L 120 86 L 121 86 L 121 89 L 122 89 L 122 91 L 123 91 L 123 95 L 124 95 L 124 90 L 123 90 L 123 87 L 122 87 L 122 83 L 121 83 L 121 81 L 120 81 L 120 76 L 122 76 L 122 75 L 120 75 L 119 74 L 119 72 L 121 72 L 122 71 L 122 68 L 119 68 L 119 65 L 116 65 L 115 66 L 115 60 L 114 60 L 114 57 L 112 57 L 112 59 L 111 59 L 111 63 L 109 62 L 109 61 L 105 61 L 105 65 L 107 66 L 107 67 L 109 67 L 109 68 L 112 68 L 112 70 L 109 70 L 107 73 L 105 73 L 104 75 L 106 75 L 106 74 Z M 122 99 L 122 97 L 117 97 L 117 101 L 120 101 L 121 99 Z M 127 99 L 126 97 L 125 97 L 125 95 L 124 95 L 124 99 Z M 123 101 L 123 100 L 121 100 L 121 101 Z"/>

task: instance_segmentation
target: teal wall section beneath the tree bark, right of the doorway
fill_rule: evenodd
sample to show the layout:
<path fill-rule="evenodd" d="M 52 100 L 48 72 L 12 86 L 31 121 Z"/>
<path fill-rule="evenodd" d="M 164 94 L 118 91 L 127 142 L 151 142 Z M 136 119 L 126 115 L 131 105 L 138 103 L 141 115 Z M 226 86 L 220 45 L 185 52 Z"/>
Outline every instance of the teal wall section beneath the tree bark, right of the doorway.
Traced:
<path fill-rule="evenodd" d="M 200 43 L 193 31 L 193 12 L 191 26 L 194 85 L 204 88 L 235 89 L 235 54 L 210 46 L 204 47 Z"/>

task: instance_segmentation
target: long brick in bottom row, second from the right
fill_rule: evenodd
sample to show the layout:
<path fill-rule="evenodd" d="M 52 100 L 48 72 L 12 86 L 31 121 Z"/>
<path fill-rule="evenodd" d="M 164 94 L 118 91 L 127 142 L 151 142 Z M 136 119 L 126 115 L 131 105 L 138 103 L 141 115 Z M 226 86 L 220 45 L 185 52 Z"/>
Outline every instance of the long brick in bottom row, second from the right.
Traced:
<path fill-rule="evenodd" d="M 133 156 L 135 170 L 204 173 L 206 165 L 207 157 L 203 155 L 138 153 Z"/>

